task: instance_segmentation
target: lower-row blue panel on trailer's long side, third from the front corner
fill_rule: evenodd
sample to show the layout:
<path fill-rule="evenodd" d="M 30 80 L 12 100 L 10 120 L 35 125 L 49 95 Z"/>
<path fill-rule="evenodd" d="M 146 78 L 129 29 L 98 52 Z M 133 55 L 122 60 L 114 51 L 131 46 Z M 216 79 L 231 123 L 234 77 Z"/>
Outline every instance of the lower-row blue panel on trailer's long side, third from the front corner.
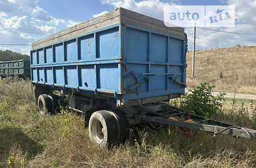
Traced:
<path fill-rule="evenodd" d="M 69 86 L 77 86 L 78 84 L 78 74 L 76 66 L 71 66 L 65 68 L 65 83 Z"/>

